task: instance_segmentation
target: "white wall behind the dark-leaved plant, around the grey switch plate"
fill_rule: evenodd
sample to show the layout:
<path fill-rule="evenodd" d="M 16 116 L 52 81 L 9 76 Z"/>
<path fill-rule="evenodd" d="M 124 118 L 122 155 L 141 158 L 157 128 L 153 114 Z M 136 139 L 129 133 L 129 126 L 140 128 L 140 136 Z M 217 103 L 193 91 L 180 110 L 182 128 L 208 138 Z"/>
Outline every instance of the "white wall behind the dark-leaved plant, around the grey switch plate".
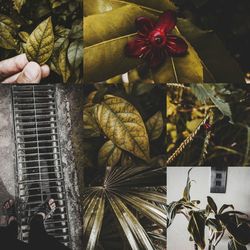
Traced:
<path fill-rule="evenodd" d="M 190 167 L 169 167 L 167 172 L 168 203 L 182 198 Z M 227 190 L 225 194 L 210 193 L 210 168 L 194 167 L 190 177 L 195 182 L 191 187 L 191 198 L 200 200 L 200 207 L 207 204 L 206 197 L 211 196 L 220 208 L 223 204 L 233 204 L 236 210 L 250 215 L 250 168 L 230 167 L 228 169 Z M 183 215 L 177 215 L 168 229 L 167 250 L 193 250 L 187 231 L 188 222 Z M 224 237 L 216 250 L 226 250 L 228 237 Z M 250 249 L 250 246 L 248 246 Z"/>

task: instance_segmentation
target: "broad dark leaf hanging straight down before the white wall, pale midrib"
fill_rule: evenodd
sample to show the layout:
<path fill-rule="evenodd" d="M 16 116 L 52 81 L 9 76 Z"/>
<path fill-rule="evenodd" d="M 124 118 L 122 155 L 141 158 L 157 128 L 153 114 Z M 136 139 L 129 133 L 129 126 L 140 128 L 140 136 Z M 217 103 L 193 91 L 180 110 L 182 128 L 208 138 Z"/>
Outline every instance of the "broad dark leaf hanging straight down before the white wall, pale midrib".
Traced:
<path fill-rule="evenodd" d="M 205 217 L 200 211 L 192 211 L 192 215 L 188 224 L 188 231 L 192 235 L 195 243 L 205 249 Z"/>

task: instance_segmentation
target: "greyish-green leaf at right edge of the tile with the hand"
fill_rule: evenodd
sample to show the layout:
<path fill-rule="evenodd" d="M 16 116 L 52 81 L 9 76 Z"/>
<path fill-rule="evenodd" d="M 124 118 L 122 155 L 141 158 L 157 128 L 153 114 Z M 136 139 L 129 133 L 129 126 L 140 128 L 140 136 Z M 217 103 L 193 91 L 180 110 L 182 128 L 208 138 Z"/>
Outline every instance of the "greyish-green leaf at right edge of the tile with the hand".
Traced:
<path fill-rule="evenodd" d="M 72 69 L 77 69 L 83 60 L 83 41 L 75 40 L 68 48 L 68 61 Z"/>

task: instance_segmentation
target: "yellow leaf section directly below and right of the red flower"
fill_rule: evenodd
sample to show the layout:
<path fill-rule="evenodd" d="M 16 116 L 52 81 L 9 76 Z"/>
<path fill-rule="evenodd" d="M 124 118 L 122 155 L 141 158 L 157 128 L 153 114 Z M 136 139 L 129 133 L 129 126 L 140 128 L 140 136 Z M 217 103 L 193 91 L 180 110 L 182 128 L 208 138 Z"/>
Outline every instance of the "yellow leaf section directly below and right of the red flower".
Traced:
<path fill-rule="evenodd" d="M 163 66 L 154 70 L 153 78 L 156 83 L 203 82 L 203 67 L 200 58 L 191 44 L 186 42 L 188 44 L 186 55 L 168 57 Z"/>

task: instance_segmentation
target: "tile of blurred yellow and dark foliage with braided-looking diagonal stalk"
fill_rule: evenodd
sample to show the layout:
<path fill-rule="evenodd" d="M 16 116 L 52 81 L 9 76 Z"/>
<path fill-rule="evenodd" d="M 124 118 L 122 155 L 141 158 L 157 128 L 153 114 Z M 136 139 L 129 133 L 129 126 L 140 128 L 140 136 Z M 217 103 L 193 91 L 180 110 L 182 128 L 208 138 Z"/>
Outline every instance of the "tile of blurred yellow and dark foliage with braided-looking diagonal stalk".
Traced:
<path fill-rule="evenodd" d="M 167 165 L 250 165 L 247 85 L 167 86 Z"/>

